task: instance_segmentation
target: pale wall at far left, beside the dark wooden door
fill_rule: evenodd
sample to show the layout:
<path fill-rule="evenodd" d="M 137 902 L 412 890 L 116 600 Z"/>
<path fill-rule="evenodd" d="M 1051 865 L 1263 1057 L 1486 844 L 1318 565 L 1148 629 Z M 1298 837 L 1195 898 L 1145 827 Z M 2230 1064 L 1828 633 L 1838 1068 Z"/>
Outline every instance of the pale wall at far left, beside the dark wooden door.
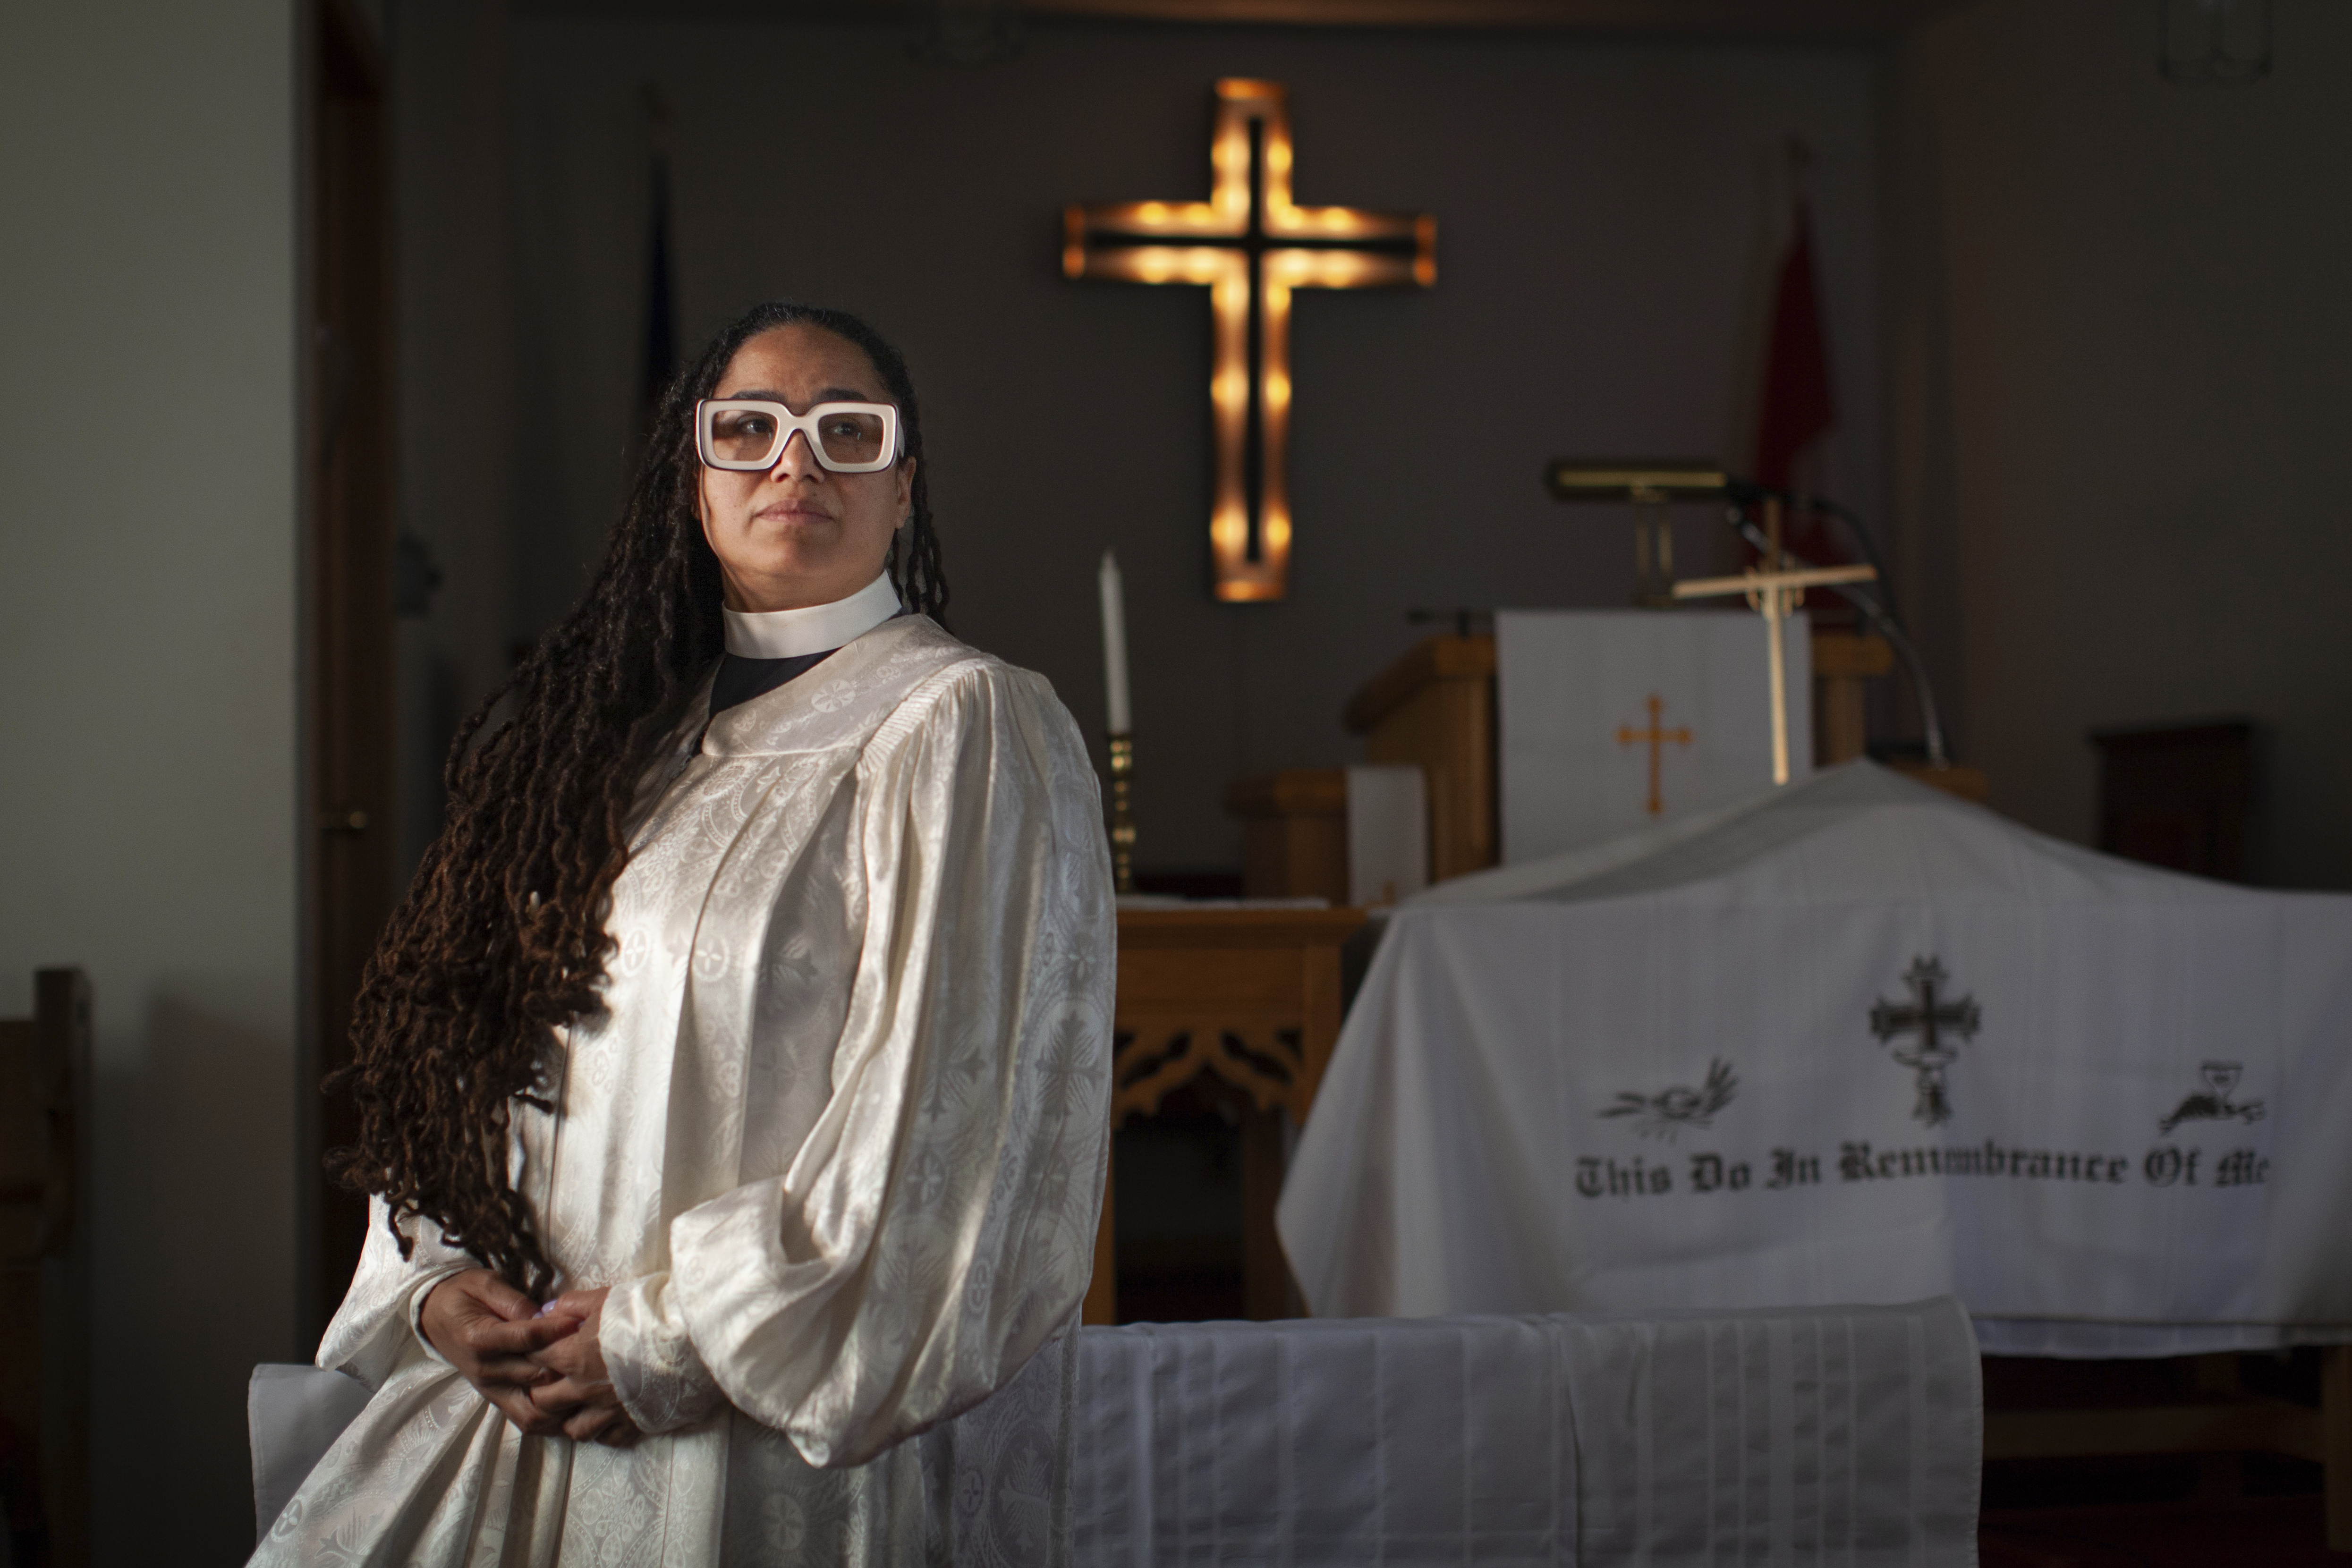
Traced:
<path fill-rule="evenodd" d="M 94 1535 L 252 1547 L 292 1342 L 296 122 L 287 0 L 7 7 L 0 1011 L 96 987 Z"/>

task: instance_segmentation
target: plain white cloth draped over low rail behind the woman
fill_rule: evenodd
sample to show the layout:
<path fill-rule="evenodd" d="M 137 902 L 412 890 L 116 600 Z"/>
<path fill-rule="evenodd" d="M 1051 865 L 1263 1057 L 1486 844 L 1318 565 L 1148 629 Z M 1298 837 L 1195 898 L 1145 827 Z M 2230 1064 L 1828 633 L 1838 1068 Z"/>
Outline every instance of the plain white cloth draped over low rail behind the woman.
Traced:
<path fill-rule="evenodd" d="M 955 1425 L 1021 1401 L 1047 1361 Z M 299 1488 L 350 1387 L 256 1371 L 256 1495 Z M 1952 1300 L 1084 1328 L 1075 1387 L 1087 1568 L 1976 1561 L 1983 1415 Z M 1023 1453 L 957 1441 L 957 1512 L 1033 1493 L 988 1472 Z"/>

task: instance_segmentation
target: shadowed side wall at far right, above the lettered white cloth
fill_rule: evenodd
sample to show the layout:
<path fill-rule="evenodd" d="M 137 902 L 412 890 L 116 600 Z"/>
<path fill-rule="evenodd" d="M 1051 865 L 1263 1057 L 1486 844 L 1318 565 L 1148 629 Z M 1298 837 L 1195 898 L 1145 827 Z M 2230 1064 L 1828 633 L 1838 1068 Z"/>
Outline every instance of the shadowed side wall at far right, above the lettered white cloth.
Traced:
<path fill-rule="evenodd" d="M 2084 733 L 2265 726 L 2258 875 L 2352 886 L 2352 12 L 2253 87 L 2147 0 L 1978 0 L 1896 54 L 1896 489 L 1992 802 L 2096 830 Z"/>

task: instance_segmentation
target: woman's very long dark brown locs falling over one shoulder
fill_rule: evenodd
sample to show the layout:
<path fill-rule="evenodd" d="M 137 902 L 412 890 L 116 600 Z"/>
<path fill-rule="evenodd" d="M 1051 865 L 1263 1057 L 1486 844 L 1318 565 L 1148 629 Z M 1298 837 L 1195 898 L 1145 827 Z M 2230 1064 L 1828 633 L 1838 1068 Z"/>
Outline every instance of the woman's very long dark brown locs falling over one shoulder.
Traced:
<path fill-rule="evenodd" d="M 553 1032 L 602 1011 L 607 896 L 628 860 L 630 806 L 724 646 L 720 564 L 696 508 L 694 404 L 715 395 L 746 341 L 793 322 L 863 348 L 898 404 L 915 484 L 887 569 L 908 609 L 943 618 L 906 360 L 842 310 L 746 313 L 663 393 L 588 597 L 459 729 L 442 773 L 447 827 L 360 980 L 353 1060 L 327 1081 L 358 1100 L 360 1138 L 327 1168 L 383 1194 L 402 1258 L 407 1222 L 423 1215 L 534 1300 L 555 1279 L 508 1175 L 508 1114 L 517 1100 L 550 1110 Z M 506 698 L 513 717 L 482 738 Z"/>

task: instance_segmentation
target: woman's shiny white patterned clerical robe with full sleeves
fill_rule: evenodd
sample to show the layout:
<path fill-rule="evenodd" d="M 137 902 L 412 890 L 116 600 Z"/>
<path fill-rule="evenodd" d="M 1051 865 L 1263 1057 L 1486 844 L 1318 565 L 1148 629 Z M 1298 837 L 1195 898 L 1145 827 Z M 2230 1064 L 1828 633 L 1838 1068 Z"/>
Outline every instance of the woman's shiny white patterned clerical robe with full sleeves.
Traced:
<path fill-rule="evenodd" d="M 612 1286 L 649 1436 L 515 1432 L 414 1328 L 473 1260 L 430 1225 L 402 1260 L 379 1201 L 318 1352 L 374 1399 L 256 1563 L 1063 1559 L 1047 1342 L 1094 1260 L 1115 964 L 1077 726 L 906 616 L 675 766 L 612 891 L 609 1006 L 513 1140 L 564 1288 Z M 1042 1420 L 941 1425 L 1040 1347 Z M 967 1429 L 1035 1448 L 1007 1495 L 948 1495 Z"/>

